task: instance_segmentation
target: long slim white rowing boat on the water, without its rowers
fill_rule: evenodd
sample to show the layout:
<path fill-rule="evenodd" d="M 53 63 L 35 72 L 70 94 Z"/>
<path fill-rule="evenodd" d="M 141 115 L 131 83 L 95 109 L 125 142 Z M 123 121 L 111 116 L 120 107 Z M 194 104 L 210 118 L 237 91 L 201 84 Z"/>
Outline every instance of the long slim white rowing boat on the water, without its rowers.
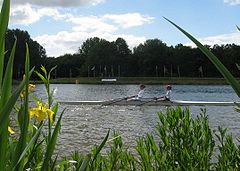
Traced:
<path fill-rule="evenodd" d="M 119 106 L 234 106 L 240 102 L 209 102 L 209 101 L 185 101 L 171 100 L 160 101 L 153 99 L 141 100 L 107 100 L 107 101 L 59 101 L 60 104 L 66 105 L 119 105 Z"/>

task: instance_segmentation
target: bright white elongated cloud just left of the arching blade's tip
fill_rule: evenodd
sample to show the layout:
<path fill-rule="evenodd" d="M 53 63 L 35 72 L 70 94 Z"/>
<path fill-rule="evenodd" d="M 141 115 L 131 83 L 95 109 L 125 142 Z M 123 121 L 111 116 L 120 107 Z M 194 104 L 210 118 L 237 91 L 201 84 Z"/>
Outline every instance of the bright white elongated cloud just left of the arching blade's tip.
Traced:
<path fill-rule="evenodd" d="M 153 17 L 143 16 L 139 13 L 127 13 L 127 14 L 106 14 L 103 19 L 112 20 L 114 23 L 119 24 L 123 28 L 130 28 L 135 26 L 141 26 L 146 23 L 151 23 Z"/>

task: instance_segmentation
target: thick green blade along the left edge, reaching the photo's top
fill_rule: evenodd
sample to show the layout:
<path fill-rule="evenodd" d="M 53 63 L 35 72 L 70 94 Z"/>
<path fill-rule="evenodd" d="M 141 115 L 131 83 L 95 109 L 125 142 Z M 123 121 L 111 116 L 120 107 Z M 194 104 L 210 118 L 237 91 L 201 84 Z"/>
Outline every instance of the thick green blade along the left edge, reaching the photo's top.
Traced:
<path fill-rule="evenodd" d="M 10 12 L 10 0 L 4 0 L 0 14 L 0 91 L 2 86 L 2 76 L 4 68 L 4 54 L 5 54 L 5 34 L 8 27 Z"/>

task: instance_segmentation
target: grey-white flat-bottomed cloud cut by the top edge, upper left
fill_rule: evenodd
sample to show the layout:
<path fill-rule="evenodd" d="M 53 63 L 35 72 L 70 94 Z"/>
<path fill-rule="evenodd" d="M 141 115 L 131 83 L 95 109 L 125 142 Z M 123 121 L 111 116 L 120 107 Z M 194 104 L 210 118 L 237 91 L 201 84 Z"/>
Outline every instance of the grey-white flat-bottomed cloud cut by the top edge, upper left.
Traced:
<path fill-rule="evenodd" d="M 13 4 L 32 4 L 45 7 L 77 7 L 83 5 L 97 5 L 105 0 L 13 0 Z"/>

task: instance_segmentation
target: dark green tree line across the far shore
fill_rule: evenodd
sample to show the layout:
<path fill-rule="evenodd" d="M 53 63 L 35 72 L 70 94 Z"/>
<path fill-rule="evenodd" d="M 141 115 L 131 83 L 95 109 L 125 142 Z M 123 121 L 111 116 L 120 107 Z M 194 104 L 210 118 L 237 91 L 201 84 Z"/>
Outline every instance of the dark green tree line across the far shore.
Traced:
<path fill-rule="evenodd" d="M 221 77 L 204 54 L 194 47 L 178 44 L 168 46 L 159 39 L 149 39 L 130 50 L 123 38 L 107 41 L 89 38 L 75 54 L 47 57 L 45 49 L 30 38 L 26 31 L 9 30 L 6 49 L 18 38 L 14 77 L 20 78 L 25 59 L 25 42 L 30 49 L 31 66 L 44 65 L 57 69 L 53 77 Z M 235 44 L 207 46 L 233 73 L 239 76 L 240 46 Z M 9 56 L 9 52 L 6 53 Z"/>

